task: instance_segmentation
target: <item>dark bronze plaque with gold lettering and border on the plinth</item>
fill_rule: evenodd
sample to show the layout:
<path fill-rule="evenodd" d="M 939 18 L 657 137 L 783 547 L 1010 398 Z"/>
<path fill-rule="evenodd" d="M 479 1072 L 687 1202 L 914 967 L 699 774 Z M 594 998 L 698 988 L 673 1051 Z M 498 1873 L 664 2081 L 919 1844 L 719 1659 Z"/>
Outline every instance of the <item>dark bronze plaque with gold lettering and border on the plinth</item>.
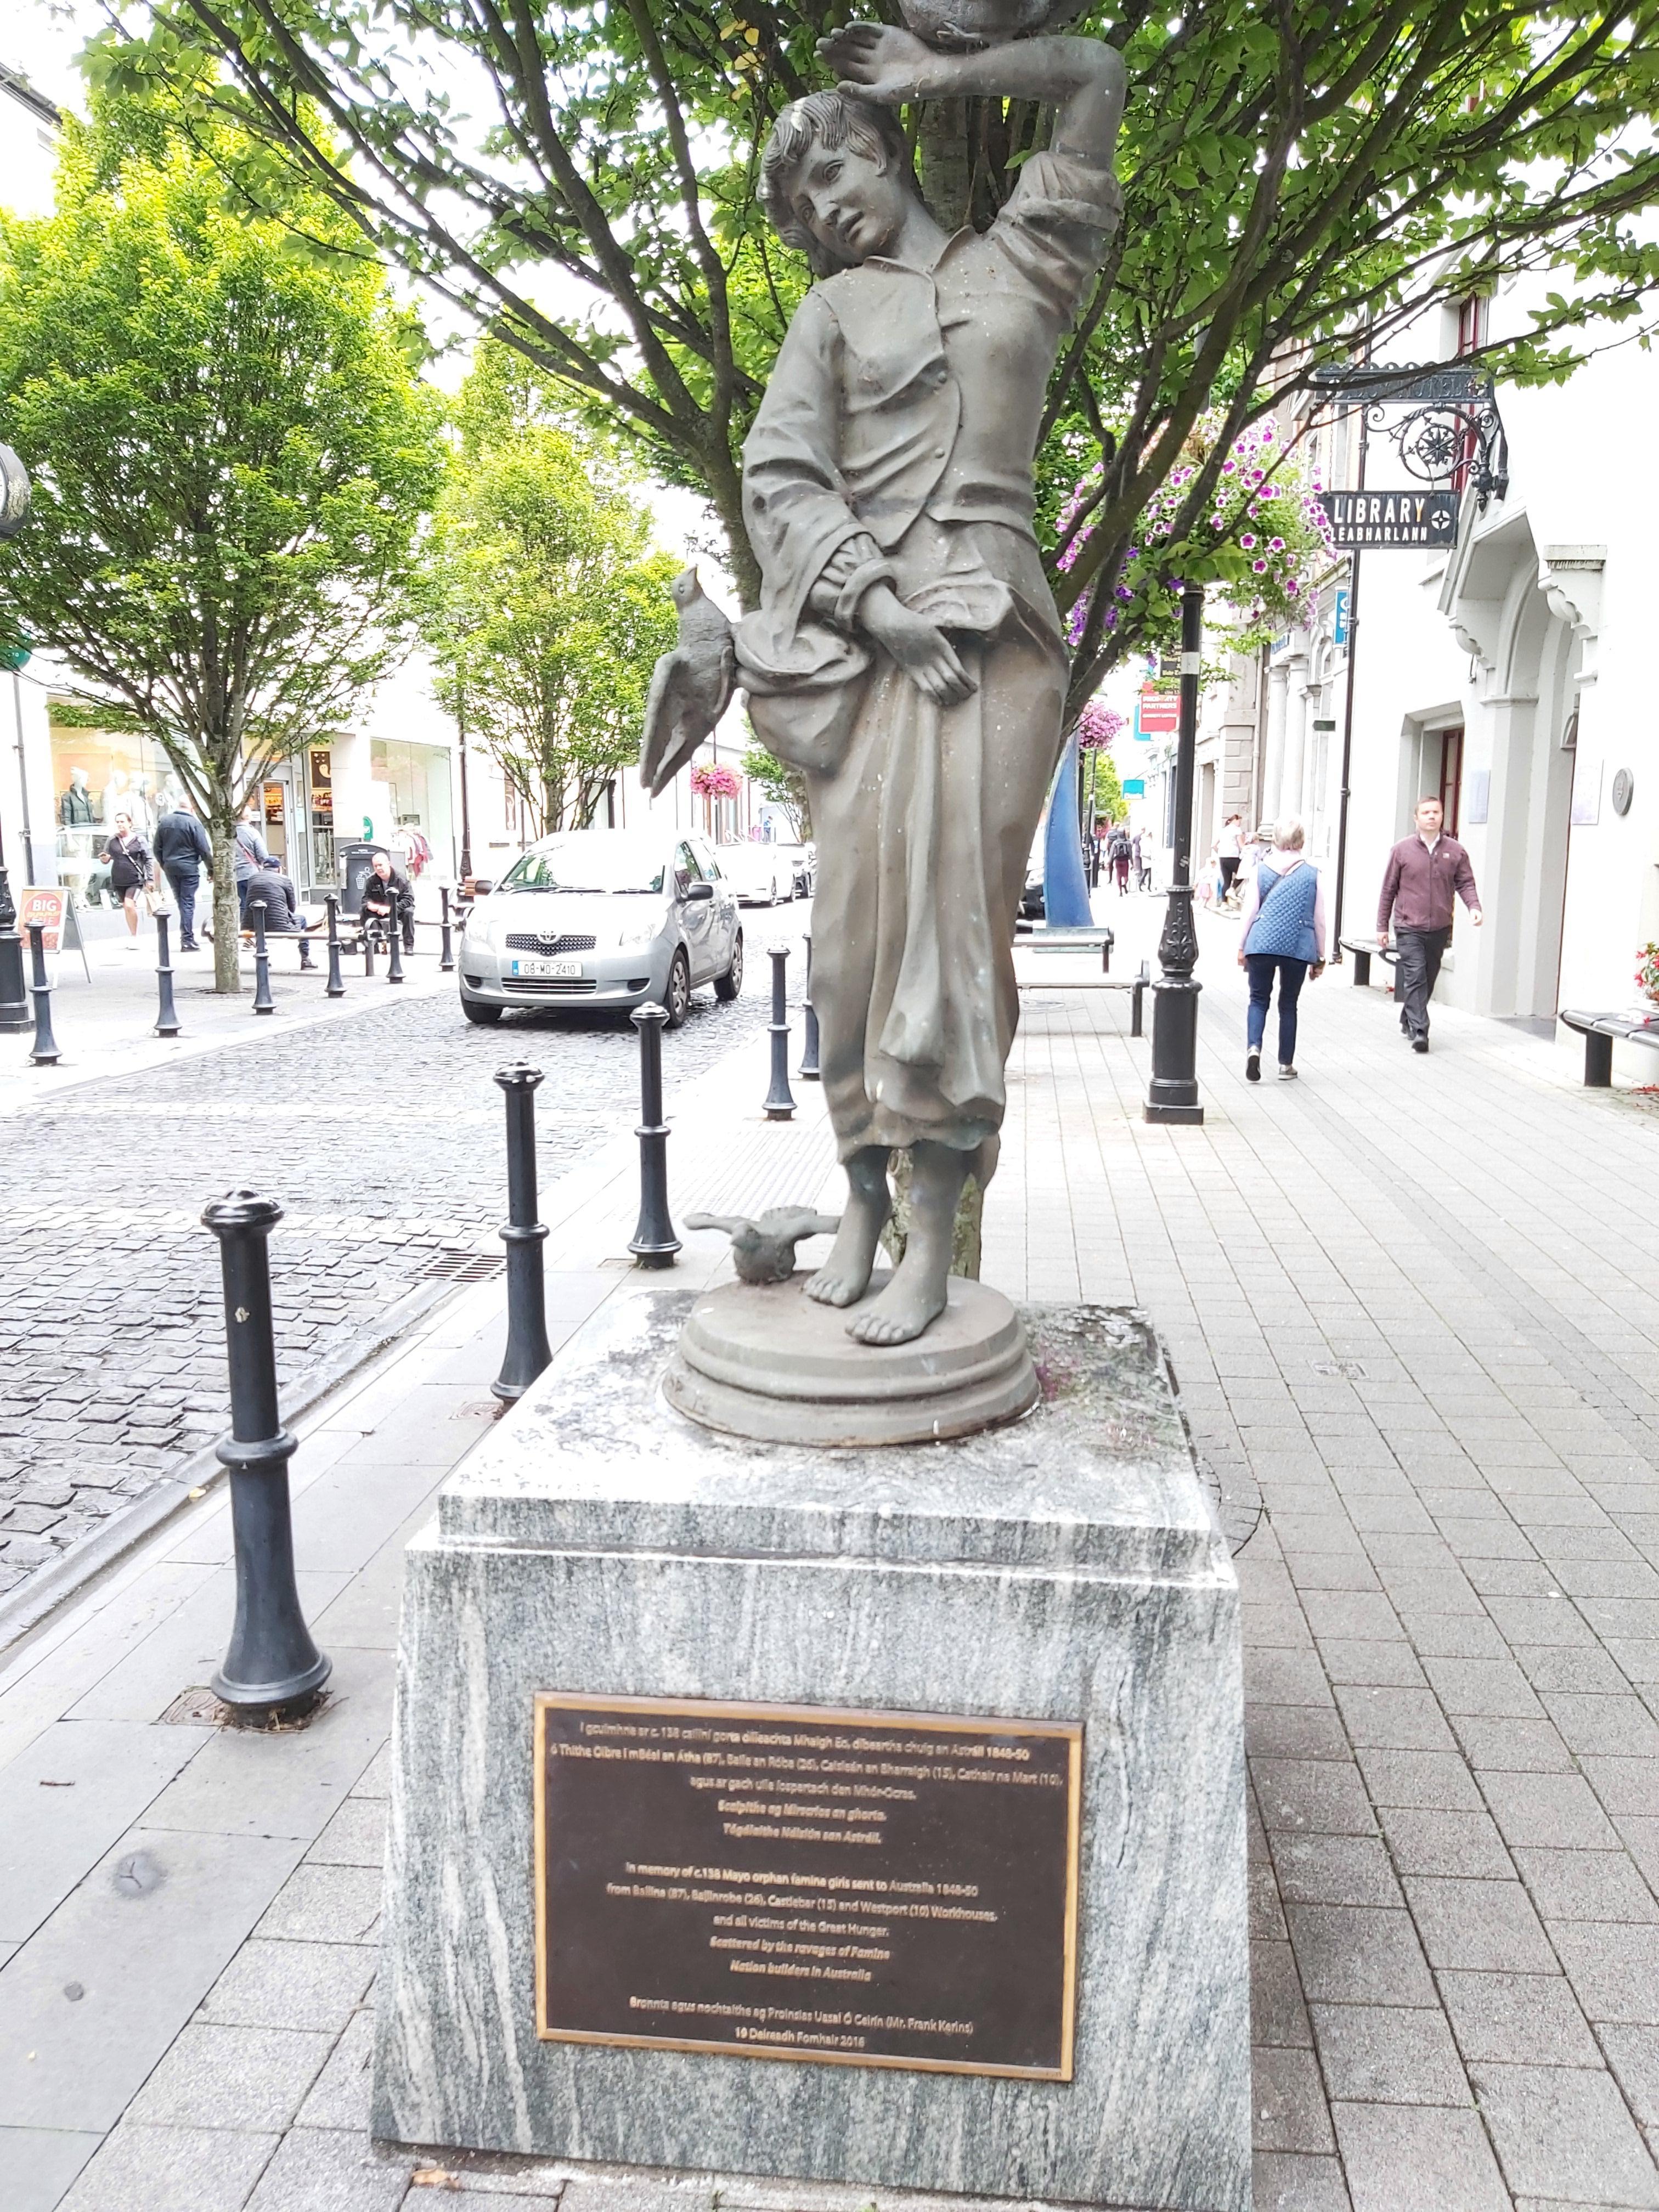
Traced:
<path fill-rule="evenodd" d="M 1071 2081 L 1082 1734 L 538 1697 L 538 2031 Z"/>

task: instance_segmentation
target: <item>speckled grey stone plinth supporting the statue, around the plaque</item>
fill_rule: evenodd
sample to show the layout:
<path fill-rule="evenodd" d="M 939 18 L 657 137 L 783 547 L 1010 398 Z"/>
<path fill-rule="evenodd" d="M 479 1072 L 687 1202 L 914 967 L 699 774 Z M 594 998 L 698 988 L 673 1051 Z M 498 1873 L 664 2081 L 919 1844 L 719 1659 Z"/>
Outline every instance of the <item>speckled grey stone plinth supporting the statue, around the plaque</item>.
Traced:
<path fill-rule="evenodd" d="M 1033 1307 L 1024 1420 L 807 1451 L 664 1402 L 688 1305 L 611 1301 L 409 1546 L 376 2135 L 1248 2212 L 1239 1586 L 1150 1329 Z M 549 1690 L 1082 1721 L 1075 2077 L 540 2042 Z"/>

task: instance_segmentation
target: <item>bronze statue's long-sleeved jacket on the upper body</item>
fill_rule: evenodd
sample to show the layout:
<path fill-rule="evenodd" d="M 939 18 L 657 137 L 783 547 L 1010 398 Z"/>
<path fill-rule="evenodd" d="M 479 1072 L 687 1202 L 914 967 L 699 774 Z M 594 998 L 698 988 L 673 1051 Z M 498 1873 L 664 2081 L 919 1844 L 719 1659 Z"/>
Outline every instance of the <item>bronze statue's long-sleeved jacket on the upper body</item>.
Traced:
<path fill-rule="evenodd" d="M 1020 624 L 1060 648 L 1031 462 L 1060 338 L 1119 217 L 1108 170 L 1035 153 L 989 232 L 958 230 L 927 270 L 874 257 L 801 301 L 743 447 L 763 593 L 737 630 L 739 681 L 781 759 L 834 770 L 872 666 L 854 606 L 814 591 L 847 544 L 874 542 L 945 630 Z"/>

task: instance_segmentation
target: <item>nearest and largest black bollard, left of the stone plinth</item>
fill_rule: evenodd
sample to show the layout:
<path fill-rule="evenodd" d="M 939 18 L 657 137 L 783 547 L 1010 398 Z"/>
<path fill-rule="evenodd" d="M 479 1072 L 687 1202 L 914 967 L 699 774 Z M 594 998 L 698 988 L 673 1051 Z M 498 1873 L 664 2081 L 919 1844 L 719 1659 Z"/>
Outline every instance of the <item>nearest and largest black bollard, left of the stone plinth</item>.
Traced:
<path fill-rule="evenodd" d="M 230 1436 L 219 1460 L 230 1469 L 230 1533 L 237 1548 L 237 1624 L 215 1697 L 246 1721 L 296 1717 L 316 1703 L 330 1661 L 312 1644 L 294 1586 L 294 1520 L 288 1462 L 294 1438 L 276 1413 L 276 1345 L 270 1329 L 274 1199 L 232 1190 L 201 1221 L 219 1239 L 230 1358 Z"/>

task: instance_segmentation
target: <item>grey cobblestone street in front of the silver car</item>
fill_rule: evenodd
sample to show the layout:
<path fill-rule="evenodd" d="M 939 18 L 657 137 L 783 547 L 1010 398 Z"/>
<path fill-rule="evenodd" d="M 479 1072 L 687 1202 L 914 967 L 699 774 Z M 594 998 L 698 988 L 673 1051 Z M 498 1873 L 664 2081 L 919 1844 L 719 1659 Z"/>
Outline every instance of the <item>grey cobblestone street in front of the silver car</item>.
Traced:
<path fill-rule="evenodd" d="M 799 993 L 810 914 L 745 909 L 748 991 L 732 1006 L 699 991 L 664 1040 L 670 1113 L 677 1084 L 765 1029 L 768 945 L 792 947 Z M 349 1367 L 400 1301 L 500 1265 L 491 1075 L 520 1057 L 546 1071 L 544 1188 L 637 1121 L 626 1020 L 469 1029 L 453 991 L 250 1035 L 62 1102 L 35 1071 L 42 1108 L 4 1124 L 0 1179 L 0 1595 L 223 1433 L 208 1199 L 252 1186 L 288 1208 L 270 1245 L 288 1398 Z"/>

